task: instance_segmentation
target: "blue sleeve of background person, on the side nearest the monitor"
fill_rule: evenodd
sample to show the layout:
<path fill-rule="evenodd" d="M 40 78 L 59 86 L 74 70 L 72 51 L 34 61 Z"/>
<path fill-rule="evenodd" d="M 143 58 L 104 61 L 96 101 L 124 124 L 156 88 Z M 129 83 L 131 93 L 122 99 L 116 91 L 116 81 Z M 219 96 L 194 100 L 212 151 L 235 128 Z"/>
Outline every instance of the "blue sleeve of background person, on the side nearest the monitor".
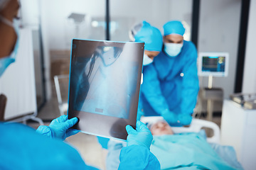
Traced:
<path fill-rule="evenodd" d="M 185 66 L 183 67 L 183 82 L 181 92 L 181 113 L 191 114 L 196 106 L 196 100 L 199 90 L 198 72 L 197 72 L 197 51 L 193 43 L 190 43 L 186 55 Z"/>

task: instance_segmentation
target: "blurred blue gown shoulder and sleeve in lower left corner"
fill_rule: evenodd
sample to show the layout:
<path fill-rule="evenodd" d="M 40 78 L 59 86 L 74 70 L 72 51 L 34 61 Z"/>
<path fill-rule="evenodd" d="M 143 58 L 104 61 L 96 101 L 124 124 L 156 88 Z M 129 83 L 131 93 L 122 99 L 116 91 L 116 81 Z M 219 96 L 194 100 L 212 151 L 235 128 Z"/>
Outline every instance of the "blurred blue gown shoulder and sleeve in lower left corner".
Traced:
<path fill-rule="evenodd" d="M 90 169 L 78 151 L 19 123 L 0 123 L 0 169 Z"/>

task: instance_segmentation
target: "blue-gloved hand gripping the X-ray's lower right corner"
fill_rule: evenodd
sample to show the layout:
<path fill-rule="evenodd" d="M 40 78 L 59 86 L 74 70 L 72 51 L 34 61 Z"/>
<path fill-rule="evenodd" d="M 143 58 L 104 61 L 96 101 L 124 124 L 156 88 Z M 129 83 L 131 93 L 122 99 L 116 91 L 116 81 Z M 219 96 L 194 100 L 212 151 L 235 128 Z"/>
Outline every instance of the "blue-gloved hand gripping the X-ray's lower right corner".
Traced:
<path fill-rule="evenodd" d="M 137 120 L 136 130 L 134 130 L 134 128 L 132 128 L 130 125 L 126 126 L 126 130 L 128 133 L 127 147 L 131 145 L 141 145 L 149 149 L 153 136 L 149 128 L 147 128 L 144 123 Z"/>

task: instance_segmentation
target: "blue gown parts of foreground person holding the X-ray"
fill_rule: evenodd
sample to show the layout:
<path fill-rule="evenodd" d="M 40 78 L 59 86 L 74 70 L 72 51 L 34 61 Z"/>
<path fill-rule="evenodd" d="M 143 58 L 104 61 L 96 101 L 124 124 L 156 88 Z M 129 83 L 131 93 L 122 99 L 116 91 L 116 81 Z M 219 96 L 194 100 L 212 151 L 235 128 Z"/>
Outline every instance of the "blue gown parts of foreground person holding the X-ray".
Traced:
<path fill-rule="evenodd" d="M 67 143 L 26 125 L 0 122 L 0 135 L 0 169 L 96 169 Z M 160 169 L 154 154 L 139 145 L 124 147 L 120 160 L 119 169 Z"/>

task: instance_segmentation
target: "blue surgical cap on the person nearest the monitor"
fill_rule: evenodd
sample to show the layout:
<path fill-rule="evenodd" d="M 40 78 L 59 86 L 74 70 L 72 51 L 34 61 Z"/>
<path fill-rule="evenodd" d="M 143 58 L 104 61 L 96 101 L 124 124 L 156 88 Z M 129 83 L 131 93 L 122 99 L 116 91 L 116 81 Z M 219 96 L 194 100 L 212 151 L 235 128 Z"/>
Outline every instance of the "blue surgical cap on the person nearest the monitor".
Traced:
<path fill-rule="evenodd" d="M 170 34 L 178 34 L 183 36 L 185 33 L 185 28 L 183 27 L 181 21 L 169 21 L 164 24 L 164 36 Z"/>

